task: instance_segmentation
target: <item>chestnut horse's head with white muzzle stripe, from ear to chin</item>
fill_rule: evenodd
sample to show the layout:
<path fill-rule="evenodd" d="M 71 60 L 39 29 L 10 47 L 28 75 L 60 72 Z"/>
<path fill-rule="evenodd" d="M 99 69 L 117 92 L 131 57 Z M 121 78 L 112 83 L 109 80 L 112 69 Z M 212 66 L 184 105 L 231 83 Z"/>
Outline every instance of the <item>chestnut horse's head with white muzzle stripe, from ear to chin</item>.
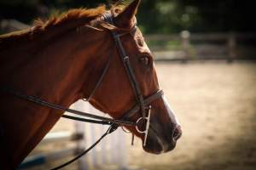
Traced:
<path fill-rule="evenodd" d="M 150 100 L 147 105 L 140 105 L 145 108 L 140 107 L 136 113 L 129 117 L 125 116 L 125 113 L 131 111 L 134 105 L 140 103 L 140 99 L 137 99 L 140 96 L 134 92 L 137 91 L 134 86 L 137 86 L 135 88 L 139 89 L 143 99 L 147 99 L 148 96 L 160 90 L 154 56 L 144 41 L 142 32 L 136 26 L 135 14 L 139 2 L 135 0 L 122 10 L 113 8 L 111 13 L 108 13 L 108 17 L 103 16 L 94 23 L 95 26 L 102 26 L 109 35 L 113 49 L 109 49 L 112 50 L 109 53 L 112 59 L 109 61 L 108 71 L 104 73 L 101 82 L 96 85 L 96 90 L 93 95 L 90 95 L 89 100 L 91 105 L 100 111 L 108 112 L 114 118 L 124 119 L 125 117 L 125 120 L 137 122 L 137 128 L 126 128 L 143 139 L 144 150 L 160 154 L 172 150 L 182 134 L 177 118 L 165 96 L 160 94 L 157 99 Z M 119 42 L 116 37 L 119 37 Z M 125 68 L 125 61 L 120 58 L 120 55 L 126 55 L 123 57 L 129 59 L 131 68 Z M 132 70 L 132 75 L 129 75 L 129 71 L 127 73 L 127 69 Z M 134 79 L 131 78 L 133 76 Z M 104 95 L 106 92 L 108 95 Z M 150 120 L 142 115 L 142 110 L 146 111 L 146 116 L 151 114 Z M 147 121 L 148 132 L 140 133 L 139 131 L 144 131 L 146 128 Z M 148 135 L 147 138 L 145 135 Z"/>

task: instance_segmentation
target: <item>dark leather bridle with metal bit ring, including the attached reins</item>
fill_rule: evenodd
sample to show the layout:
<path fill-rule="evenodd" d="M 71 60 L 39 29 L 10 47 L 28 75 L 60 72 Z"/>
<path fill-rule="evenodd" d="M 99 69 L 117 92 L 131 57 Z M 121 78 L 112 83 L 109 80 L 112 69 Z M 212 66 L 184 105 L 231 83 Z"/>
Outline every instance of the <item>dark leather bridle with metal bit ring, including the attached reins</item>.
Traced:
<path fill-rule="evenodd" d="M 114 26 L 113 14 L 110 14 L 110 13 L 103 14 L 102 18 L 104 21 L 106 21 L 109 24 Z M 87 150 L 84 150 L 81 154 L 79 154 L 79 156 L 76 156 L 72 160 L 67 161 L 66 163 L 62 164 L 61 166 L 58 166 L 58 167 L 55 167 L 52 169 L 59 169 L 61 167 L 65 167 L 68 164 L 72 163 L 73 161 L 76 161 L 77 159 L 79 159 L 79 157 L 84 156 L 84 154 L 86 154 L 96 144 L 98 144 L 108 133 L 112 133 L 119 126 L 121 126 L 121 127 L 122 126 L 136 127 L 138 133 L 144 134 L 143 146 L 146 145 L 147 137 L 148 137 L 148 128 L 149 128 L 149 123 L 150 123 L 150 111 L 152 108 L 152 106 L 150 104 L 154 100 L 160 99 L 161 96 L 163 95 L 163 91 L 158 90 L 158 91 L 154 92 L 154 94 L 151 94 L 148 97 L 144 98 L 143 94 L 139 88 L 136 76 L 135 76 L 134 71 L 131 66 L 130 57 L 125 53 L 125 48 L 123 47 L 123 44 L 120 40 L 120 37 L 126 35 L 127 33 L 131 33 L 131 31 L 136 31 L 136 29 L 137 29 L 137 26 L 135 25 L 131 28 L 131 30 L 129 32 L 125 32 L 122 34 L 119 34 L 117 31 L 111 30 L 111 34 L 112 34 L 112 37 L 113 37 L 113 40 L 115 43 L 115 47 L 118 50 L 119 57 L 122 61 L 122 64 L 125 67 L 126 75 L 129 79 L 129 82 L 131 83 L 131 88 L 132 88 L 133 94 L 135 95 L 135 98 L 137 100 L 137 104 L 134 105 L 133 107 L 131 107 L 131 109 L 129 111 L 126 111 L 125 114 L 123 116 L 121 116 L 119 119 L 112 119 L 112 118 L 108 118 L 108 117 L 104 117 L 104 116 L 96 116 L 96 115 L 93 115 L 93 114 L 90 114 L 87 112 L 68 109 L 61 105 L 55 105 L 53 103 L 45 101 L 44 99 L 40 99 L 36 96 L 21 93 L 20 91 L 15 90 L 15 88 L 10 88 L 10 86 L 1 86 L 0 87 L 0 90 L 3 91 L 4 93 L 13 94 L 16 97 L 19 97 L 20 99 L 26 99 L 26 100 L 36 103 L 38 105 L 43 105 L 43 106 L 49 107 L 51 109 L 55 109 L 55 110 L 59 110 L 59 111 L 66 111 L 66 112 L 73 113 L 75 115 L 90 117 L 92 119 L 86 119 L 84 117 L 82 118 L 82 117 L 78 117 L 78 116 L 70 116 L 70 115 L 66 115 L 66 114 L 64 114 L 62 117 L 65 117 L 68 119 L 73 119 L 76 121 L 81 121 L 81 122 L 91 122 L 91 123 L 97 123 L 97 124 L 103 124 L 103 125 L 110 125 L 107 132 L 104 133 L 102 135 L 102 137 L 95 142 L 95 144 L 92 144 Z M 108 63 L 102 72 L 102 76 L 100 77 L 98 82 L 96 82 L 96 87 L 92 90 L 89 98 L 85 99 L 86 101 L 90 101 L 90 99 L 92 99 L 93 95 L 96 93 L 96 89 L 100 87 L 103 78 L 106 76 L 106 74 L 108 72 L 108 68 L 111 63 L 111 59 L 112 59 L 112 54 L 110 55 Z M 135 114 L 138 113 L 139 111 L 141 112 L 141 116 L 139 116 L 139 118 L 137 119 L 136 122 L 131 122 L 131 117 L 135 116 Z M 100 121 L 98 121 L 98 120 L 100 120 Z M 139 122 L 143 122 L 143 121 L 146 121 L 145 130 L 142 130 L 138 127 Z"/>

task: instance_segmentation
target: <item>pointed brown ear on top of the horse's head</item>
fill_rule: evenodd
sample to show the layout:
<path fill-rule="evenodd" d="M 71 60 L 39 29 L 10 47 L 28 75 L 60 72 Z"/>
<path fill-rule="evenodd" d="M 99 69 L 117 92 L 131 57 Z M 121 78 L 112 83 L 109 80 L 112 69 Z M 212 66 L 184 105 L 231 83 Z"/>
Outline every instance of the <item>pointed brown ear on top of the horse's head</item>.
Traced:
<path fill-rule="evenodd" d="M 114 22 L 119 27 L 129 27 L 132 26 L 133 18 L 137 13 L 137 7 L 139 6 L 140 0 L 134 0 L 127 7 L 125 7 L 122 12 L 120 12 L 115 18 Z"/>

